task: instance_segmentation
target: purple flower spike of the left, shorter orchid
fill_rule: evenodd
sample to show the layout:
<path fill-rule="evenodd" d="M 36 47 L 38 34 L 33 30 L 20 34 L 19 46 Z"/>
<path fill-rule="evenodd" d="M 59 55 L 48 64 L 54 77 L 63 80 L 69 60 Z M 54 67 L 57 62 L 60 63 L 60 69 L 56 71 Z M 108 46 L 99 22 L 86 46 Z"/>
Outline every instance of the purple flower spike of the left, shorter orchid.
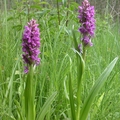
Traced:
<path fill-rule="evenodd" d="M 22 50 L 23 50 L 23 60 L 26 64 L 25 73 L 28 73 L 30 65 L 38 65 L 40 63 L 40 32 L 38 24 L 35 20 L 28 22 L 28 25 L 25 26 L 25 30 L 22 38 Z"/>

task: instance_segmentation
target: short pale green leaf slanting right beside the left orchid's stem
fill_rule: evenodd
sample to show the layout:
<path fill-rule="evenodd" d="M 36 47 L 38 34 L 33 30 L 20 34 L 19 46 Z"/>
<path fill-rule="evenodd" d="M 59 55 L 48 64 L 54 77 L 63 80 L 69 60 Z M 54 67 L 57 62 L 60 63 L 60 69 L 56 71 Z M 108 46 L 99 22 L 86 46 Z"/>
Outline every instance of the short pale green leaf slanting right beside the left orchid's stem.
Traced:
<path fill-rule="evenodd" d="M 54 92 L 45 102 L 45 104 L 43 105 L 37 120 L 44 120 L 45 115 L 48 113 L 48 108 L 51 106 L 51 103 L 53 102 L 54 98 L 56 97 L 57 92 Z"/>

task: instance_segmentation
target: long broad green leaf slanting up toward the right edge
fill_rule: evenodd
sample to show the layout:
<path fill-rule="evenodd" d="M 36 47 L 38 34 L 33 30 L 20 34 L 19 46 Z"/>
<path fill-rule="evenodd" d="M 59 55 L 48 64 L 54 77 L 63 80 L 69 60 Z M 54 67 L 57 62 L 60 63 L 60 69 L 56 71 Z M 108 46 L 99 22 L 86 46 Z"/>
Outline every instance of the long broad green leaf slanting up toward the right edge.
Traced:
<path fill-rule="evenodd" d="M 100 77 L 98 78 L 98 80 L 96 81 L 95 85 L 93 86 L 93 88 L 91 89 L 84 105 L 83 108 L 81 109 L 81 116 L 80 116 L 80 120 L 86 120 L 90 107 L 93 103 L 93 100 L 95 98 L 95 96 L 97 95 L 97 93 L 100 91 L 100 89 L 102 88 L 103 84 L 106 82 L 107 77 L 109 76 L 109 74 L 111 73 L 112 69 L 114 68 L 116 62 L 118 60 L 118 57 L 116 57 L 108 66 L 107 68 L 104 70 L 104 72 L 100 75 Z"/>

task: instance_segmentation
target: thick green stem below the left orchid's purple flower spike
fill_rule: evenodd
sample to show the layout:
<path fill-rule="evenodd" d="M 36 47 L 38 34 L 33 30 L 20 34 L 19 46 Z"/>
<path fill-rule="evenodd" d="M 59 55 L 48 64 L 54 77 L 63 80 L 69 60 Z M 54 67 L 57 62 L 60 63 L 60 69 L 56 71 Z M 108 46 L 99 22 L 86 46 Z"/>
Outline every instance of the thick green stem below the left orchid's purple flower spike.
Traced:
<path fill-rule="evenodd" d="M 34 81 L 33 81 L 33 66 L 31 65 L 25 87 L 26 120 L 35 120 L 34 92 L 35 89 L 34 89 Z"/>

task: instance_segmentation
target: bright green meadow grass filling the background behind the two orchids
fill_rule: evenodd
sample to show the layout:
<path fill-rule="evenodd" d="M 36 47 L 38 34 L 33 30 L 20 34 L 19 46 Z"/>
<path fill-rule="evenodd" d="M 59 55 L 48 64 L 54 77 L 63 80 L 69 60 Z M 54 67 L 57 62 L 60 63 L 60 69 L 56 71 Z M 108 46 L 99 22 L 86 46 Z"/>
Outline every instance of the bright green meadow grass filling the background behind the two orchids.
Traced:
<path fill-rule="evenodd" d="M 46 120 L 67 120 L 70 115 L 68 100 L 69 60 L 72 60 L 73 92 L 76 92 L 76 57 L 72 50 L 72 28 L 77 31 L 79 23 L 77 14 L 72 11 L 77 4 L 69 9 L 68 25 L 66 26 L 66 9 L 60 9 L 60 25 L 58 25 L 57 10 L 40 8 L 30 13 L 31 18 L 37 19 L 41 31 L 41 64 L 36 68 L 36 108 L 37 113 L 47 98 L 57 91 L 57 97 L 48 108 Z M 23 104 L 24 64 L 22 61 L 21 39 L 24 25 L 27 22 L 26 11 L 18 9 L 3 11 L 0 14 L 0 119 L 18 119 L 18 110 Z M 105 21 L 106 22 L 106 21 Z M 95 80 L 105 67 L 116 57 L 120 56 L 118 25 L 112 26 L 97 17 L 94 46 L 88 48 L 86 69 L 84 73 L 82 101 L 87 97 Z M 105 83 L 101 92 L 96 96 L 89 117 L 91 120 L 120 119 L 120 62 Z M 17 102 L 16 102 L 17 101 Z M 17 103 L 20 103 L 18 105 Z M 24 111 L 24 110 L 22 110 Z"/>

